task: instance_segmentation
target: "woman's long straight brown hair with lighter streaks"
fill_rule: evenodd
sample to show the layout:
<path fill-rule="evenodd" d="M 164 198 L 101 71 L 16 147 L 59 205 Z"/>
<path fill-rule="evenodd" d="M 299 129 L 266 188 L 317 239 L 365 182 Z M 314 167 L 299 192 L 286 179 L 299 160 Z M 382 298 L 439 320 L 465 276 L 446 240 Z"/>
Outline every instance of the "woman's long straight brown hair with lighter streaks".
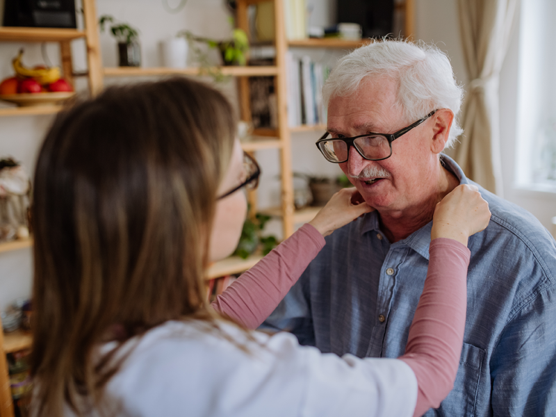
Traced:
<path fill-rule="evenodd" d="M 56 117 L 33 195 L 36 414 L 101 402 L 111 331 L 122 345 L 214 320 L 203 279 L 235 131 L 229 101 L 183 78 L 108 88 Z"/>

